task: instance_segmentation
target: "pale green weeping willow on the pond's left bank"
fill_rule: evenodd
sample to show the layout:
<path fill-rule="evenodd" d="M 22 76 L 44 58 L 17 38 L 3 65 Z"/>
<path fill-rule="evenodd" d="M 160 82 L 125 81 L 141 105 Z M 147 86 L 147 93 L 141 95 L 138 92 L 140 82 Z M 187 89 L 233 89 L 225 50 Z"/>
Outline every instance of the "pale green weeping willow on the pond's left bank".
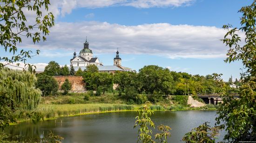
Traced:
<path fill-rule="evenodd" d="M 40 120 L 40 113 L 29 112 L 40 101 L 41 91 L 35 89 L 35 75 L 2 68 L 0 70 L 0 127 L 4 129 L 17 118 Z"/>

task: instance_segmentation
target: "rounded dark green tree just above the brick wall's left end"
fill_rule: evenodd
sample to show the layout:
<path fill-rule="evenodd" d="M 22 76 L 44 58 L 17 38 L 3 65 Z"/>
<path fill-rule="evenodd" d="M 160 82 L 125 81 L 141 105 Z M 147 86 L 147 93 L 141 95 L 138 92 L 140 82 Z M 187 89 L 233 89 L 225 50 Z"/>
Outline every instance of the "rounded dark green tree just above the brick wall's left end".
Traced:
<path fill-rule="evenodd" d="M 44 68 L 44 73 L 46 75 L 52 75 L 52 76 L 60 75 L 60 71 L 61 71 L 61 67 L 59 63 L 55 61 L 50 61 L 48 65 L 45 66 Z"/>

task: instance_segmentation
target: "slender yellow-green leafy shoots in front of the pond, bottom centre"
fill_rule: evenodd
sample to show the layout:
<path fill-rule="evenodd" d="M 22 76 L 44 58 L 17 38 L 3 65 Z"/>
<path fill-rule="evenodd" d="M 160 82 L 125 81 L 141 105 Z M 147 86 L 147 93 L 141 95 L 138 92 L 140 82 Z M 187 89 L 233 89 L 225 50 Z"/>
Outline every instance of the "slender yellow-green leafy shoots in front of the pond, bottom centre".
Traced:
<path fill-rule="evenodd" d="M 151 137 L 153 134 L 152 130 L 148 128 L 148 126 L 155 128 L 155 124 L 150 118 L 154 111 L 150 110 L 149 106 L 151 106 L 151 104 L 147 101 L 146 105 L 144 105 L 142 109 L 136 111 L 138 116 L 135 117 L 136 121 L 134 128 L 137 126 L 140 127 L 138 129 L 138 142 L 142 143 L 156 143 Z M 170 137 L 169 130 L 171 130 L 171 128 L 168 126 L 160 125 L 158 126 L 158 129 L 161 131 L 161 133 L 156 134 L 155 139 L 157 139 L 159 143 L 167 143 L 166 140 L 167 137 Z"/>

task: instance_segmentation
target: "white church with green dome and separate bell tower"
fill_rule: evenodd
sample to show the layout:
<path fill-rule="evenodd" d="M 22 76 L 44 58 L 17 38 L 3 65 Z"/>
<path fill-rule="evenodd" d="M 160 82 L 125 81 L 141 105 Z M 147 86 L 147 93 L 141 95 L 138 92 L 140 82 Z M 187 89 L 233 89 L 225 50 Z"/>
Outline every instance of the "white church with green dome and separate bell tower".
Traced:
<path fill-rule="evenodd" d="M 103 66 L 98 57 L 93 57 L 93 51 L 89 49 L 89 43 L 86 39 L 83 49 L 80 51 L 79 56 L 74 56 L 70 59 L 70 65 L 73 65 L 74 70 L 77 71 L 79 68 L 82 70 L 86 69 L 88 65 L 96 65 L 99 72 L 115 73 L 116 71 L 133 71 L 131 68 L 121 66 L 121 58 L 119 57 L 119 51 L 116 51 L 113 66 Z"/>

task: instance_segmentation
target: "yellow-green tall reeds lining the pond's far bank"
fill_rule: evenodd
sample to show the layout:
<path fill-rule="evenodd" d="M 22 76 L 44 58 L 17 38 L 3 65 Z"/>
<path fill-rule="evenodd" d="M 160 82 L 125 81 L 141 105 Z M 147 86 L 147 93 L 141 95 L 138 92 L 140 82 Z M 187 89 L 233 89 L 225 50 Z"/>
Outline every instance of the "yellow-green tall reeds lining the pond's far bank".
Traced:
<path fill-rule="evenodd" d="M 45 118 L 55 118 L 94 112 L 96 113 L 127 110 L 135 110 L 135 106 L 124 104 L 39 105 L 36 111 L 41 112 Z"/>

